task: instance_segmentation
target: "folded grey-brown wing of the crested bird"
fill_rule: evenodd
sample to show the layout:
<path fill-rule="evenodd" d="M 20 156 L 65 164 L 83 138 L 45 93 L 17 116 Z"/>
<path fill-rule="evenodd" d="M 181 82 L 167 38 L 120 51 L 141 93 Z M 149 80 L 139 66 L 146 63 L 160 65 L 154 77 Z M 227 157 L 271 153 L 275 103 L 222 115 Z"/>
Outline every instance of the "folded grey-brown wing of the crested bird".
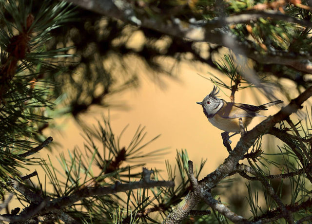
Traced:
<path fill-rule="evenodd" d="M 242 104 L 242 103 L 227 103 L 222 114 L 223 118 L 239 118 L 239 117 L 265 117 L 259 113 L 259 107 Z"/>

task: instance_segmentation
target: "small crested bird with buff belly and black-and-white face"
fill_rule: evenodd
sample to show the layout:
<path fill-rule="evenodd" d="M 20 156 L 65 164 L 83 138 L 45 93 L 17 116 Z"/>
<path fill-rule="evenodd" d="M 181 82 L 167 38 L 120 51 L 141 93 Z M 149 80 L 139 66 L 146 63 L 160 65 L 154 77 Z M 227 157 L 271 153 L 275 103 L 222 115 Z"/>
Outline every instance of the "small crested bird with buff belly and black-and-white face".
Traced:
<path fill-rule="evenodd" d="M 258 112 L 268 110 L 267 107 L 282 103 L 282 100 L 276 100 L 260 106 L 254 106 L 243 103 L 230 103 L 219 99 L 216 95 L 219 93 L 217 88 L 209 93 L 201 102 L 196 102 L 203 107 L 204 113 L 213 126 L 227 132 L 240 132 L 239 118 L 246 128 L 254 117 L 265 117 Z"/>

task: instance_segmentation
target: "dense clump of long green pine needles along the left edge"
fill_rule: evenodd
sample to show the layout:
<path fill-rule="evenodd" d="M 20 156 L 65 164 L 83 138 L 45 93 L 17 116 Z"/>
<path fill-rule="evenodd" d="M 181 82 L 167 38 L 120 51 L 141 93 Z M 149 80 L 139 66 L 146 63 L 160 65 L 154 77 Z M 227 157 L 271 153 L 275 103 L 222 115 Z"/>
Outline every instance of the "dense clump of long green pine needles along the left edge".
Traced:
<path fill-rule="evenodd" d="M 0 168 L 2 184 L 18 178 L 17 168 L 34 164 L 19 154 L 32 149 L 39 124 L 46 122 L 45 108 L 52 109 L 54 83 L 39 80 L 44 70 L 55 69 L 51 58 L 70 56 L 69 48 L 47 51 L 51 30 L 72 17 L 64 2 L 43 1 L 32 10 L 32 1 L 0 1 Z M 2 188 L 3 190 L 3 188 Z"/>

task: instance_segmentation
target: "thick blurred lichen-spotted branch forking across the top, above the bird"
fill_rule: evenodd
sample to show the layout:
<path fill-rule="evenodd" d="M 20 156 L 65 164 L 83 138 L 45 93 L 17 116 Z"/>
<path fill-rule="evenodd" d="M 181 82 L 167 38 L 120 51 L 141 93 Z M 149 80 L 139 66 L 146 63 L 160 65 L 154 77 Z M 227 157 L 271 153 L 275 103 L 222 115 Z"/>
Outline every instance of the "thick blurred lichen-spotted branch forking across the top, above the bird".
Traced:
<path fill-rule="evenodd" d="M 279 51 L 272 52 L 265 55 L 260 55 L 254 46 L 247 41 L 243 42 L 240 39 L 233 37 L 233 34 L 218 30 L 225 25 L 233 23 L 250 22 L 258 18 L 273 18 L 292 23 L 300 24 L 304 27 L 312 27 L 312 22 L 308 20 L 294 19 L 290 16 L 276 13 L 276 11 L 256 11 L 247 12 L 241 15 L 234 15 L 230 17 L 219 17 L 211 21 L 195 21 L 187 23 L 180 19 L 172 19 L 170 22 L 157 21 L 156 19 L 149 19 L 147 17 L 140 17 L 135 13 L 131 3 L 120 0 L 119 4 L 115 4 L 112 0 L 67 0 L 82 8 L 97 12 L 101 15 L 106 15 L 121 19 L 124 22 L 134 23 L 136 25 L 153 29 L 163 34 L 174 37 L 187 38 L 194 41 L 204 41 L 215 43 L 217 45 L 228 47 L 236 54 L 247 56 L 254 59 L 261 64 L 279 64 L 295 68 L 298 71 L 305 73 L 312 73 L 312 63 L 309 59 L 311 55 L 292 54 L 289 52 Z M 237 47 L 239 45 L 239 48 Z"/>

